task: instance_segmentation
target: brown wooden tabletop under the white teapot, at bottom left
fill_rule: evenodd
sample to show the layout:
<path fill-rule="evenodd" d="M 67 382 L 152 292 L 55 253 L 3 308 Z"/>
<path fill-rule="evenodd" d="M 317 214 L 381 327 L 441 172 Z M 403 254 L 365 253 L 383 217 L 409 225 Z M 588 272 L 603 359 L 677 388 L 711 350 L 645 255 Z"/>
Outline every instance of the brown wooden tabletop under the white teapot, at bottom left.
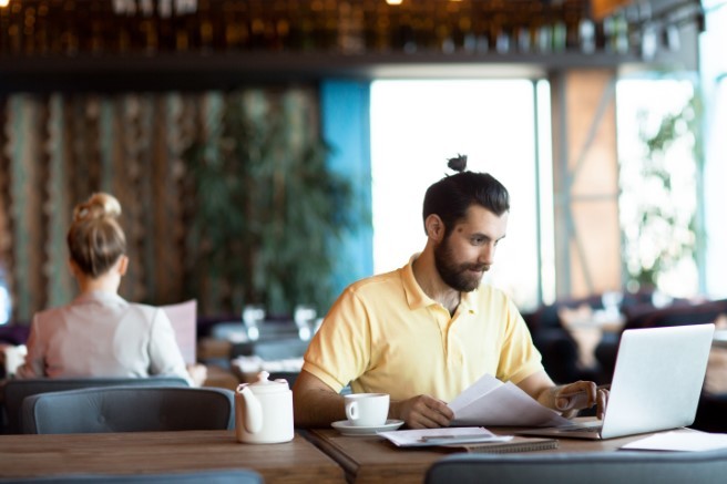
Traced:
<path fill-rule="evenodd" d="M 341 483 L 330 457 L 296 434 L 283 444 L 240 444 L 232 431 L 0 435 L 0 476 L 149 474 L 250 468 L 266 483 Z"/>

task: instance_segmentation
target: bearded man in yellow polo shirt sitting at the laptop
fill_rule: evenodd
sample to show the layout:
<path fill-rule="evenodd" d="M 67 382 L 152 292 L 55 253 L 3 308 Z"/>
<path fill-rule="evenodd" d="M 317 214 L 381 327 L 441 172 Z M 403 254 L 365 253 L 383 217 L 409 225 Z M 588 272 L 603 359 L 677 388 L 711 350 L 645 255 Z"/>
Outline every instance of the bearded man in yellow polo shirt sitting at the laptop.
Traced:
<path fill-rule="evenodd" d="M 460 159 L 461 162 L 461 159 Z M 504 238 L 509 194 L 491 175 L 465 172 L 429 187 L 424 250 L 396 271 L 348 287 L 310 342 L 294 387 L 298 426 L 345 420 L 340 390 L 389 393 L 390 419 L 411 429 L 447 426 L 447 401 L 484 373 L 511 381 L 545 406 L 573 415 L 607 393 L 593 382 L 556 387 L 519 311 L 482 276 Z"/>

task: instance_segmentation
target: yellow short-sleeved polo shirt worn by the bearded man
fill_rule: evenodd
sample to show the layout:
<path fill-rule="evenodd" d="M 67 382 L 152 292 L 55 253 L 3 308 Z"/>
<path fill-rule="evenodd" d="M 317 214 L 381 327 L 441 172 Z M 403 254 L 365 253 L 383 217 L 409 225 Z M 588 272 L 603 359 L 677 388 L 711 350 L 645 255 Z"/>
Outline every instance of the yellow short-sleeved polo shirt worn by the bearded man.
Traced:
<path fill-rule="evenodd" d="M 412 258 L 413 261 L 413 258 Z M 462 294 L 453 317 L 414 279 L 411 261 L 349 286 L 304 357 L 335 391 L 429 394 L 449 402 L 484 373 L 519 383 L 543 370 L 525 321 L 500 290 Z"/>

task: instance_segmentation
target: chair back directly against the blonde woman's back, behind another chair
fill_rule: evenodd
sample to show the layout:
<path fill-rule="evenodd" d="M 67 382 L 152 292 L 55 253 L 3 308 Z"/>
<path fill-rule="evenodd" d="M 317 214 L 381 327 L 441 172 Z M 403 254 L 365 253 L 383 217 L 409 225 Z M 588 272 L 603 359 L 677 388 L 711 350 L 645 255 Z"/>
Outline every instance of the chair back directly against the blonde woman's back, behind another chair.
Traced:
<path fill-rule="evenodd" d="M 8 380 L 2 389 L 7 421 L 4 433 L 20 433 L 22 429 L 20 409 L 25 397 L 44 392 L 76 390 L 91 387 L 135 385 L 135 387 L 188 387 L 187 381 L 181 377 L 150 377 L 150 378 L 32 378 L 22 380 Z"/>

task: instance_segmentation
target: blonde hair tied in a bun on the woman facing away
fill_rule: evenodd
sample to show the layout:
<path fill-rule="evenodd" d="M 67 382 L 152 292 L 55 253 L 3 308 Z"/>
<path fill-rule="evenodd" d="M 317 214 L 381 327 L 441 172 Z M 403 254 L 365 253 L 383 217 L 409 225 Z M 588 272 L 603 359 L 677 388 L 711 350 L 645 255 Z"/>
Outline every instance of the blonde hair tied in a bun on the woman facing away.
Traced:
<path fill-rule="evenodd" d="M 120 216 L 121 204 L 106 193 L 95 193 L 73 209 L 66 241 L 71 259 L 86 276 L 104 275 L 126 253 Z"/>

